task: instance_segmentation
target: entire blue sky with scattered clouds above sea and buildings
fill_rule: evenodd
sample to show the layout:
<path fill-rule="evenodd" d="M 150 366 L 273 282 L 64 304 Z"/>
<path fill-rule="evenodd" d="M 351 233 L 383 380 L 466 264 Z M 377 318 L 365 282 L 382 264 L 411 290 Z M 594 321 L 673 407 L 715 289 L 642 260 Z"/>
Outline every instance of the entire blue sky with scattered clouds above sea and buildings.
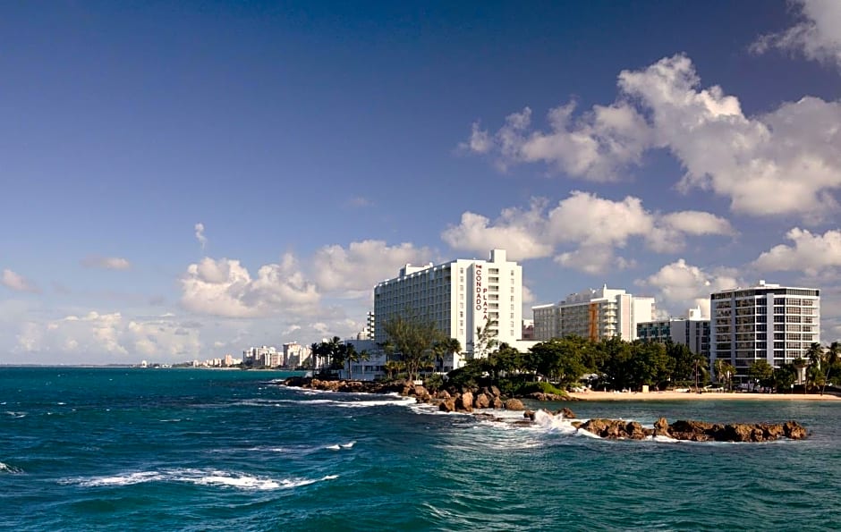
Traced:
<path fill-rule="evenodd" d="M 401 266 L 534 305 L 821 291 L 841 2 L 0 4 L 0 364 L 350 337 Z"/>

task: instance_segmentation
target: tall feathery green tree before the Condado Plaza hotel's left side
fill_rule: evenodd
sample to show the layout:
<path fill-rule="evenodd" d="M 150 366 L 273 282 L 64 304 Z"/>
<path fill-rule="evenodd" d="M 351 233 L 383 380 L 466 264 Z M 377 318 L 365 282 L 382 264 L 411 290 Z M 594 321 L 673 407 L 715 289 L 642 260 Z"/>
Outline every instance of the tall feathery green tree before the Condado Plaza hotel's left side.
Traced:
<path fill-rule="evenodd" d="M 383 324 L 383 331 L 400 354 L 410 381 L 417 379 L 421 367 L 433 359 L 436 343 L 446 339 L 431 320 L 421 317 L 394 317 Z"/>

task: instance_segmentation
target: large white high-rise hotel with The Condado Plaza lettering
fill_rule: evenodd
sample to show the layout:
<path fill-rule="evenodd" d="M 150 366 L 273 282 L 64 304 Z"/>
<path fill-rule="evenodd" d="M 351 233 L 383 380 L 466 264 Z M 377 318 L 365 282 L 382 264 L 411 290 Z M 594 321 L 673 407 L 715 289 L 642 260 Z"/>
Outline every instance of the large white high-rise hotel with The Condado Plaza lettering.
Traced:
<path fill-rule="evenodd" d="M 400 275 L 374 288 L 374 340 L 385 342 L 381 324 L 407 313 L 431 319 L 437 328 L 473 351 L 477 328 L 488 319 L 497 342 L 514 347 L 522 336 L 522 266 L 494 249 L 488 260 L 459 258 L 446 264 L 406 265 Z"/>

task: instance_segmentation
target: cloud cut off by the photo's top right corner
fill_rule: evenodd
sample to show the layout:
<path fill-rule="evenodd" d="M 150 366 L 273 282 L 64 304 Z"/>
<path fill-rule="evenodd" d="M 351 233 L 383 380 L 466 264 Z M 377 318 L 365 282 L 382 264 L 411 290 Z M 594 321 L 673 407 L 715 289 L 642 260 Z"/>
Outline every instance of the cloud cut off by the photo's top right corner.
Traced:
<path fill-rule="evenodd" d="M 788 30 L 763 35 L 753 43 L 752 51 L 763 54 L 769 48 L 779 48 L 841 68 L 841 2 L 793 0 L 793 4 L 802 21 Z"/>

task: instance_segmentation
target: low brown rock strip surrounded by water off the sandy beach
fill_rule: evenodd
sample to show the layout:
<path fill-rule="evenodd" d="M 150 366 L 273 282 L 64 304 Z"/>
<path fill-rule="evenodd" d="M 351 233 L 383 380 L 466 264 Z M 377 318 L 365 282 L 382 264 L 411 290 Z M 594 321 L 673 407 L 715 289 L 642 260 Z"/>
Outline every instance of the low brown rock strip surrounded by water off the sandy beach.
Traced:
<path fill-rule="evenodd" d="M 709 423 L 696 420 L 678 420 L 671 425 L 666 418 L 659 418 L 654 428 L 645 428 L 636 421 L 621 419 L 590 419 L 573 426 L 611 440 L 641 440 L 648 436 L 667 436 L 691 442 L 771 442 L 781 437 L 801 440 L 808 433 L 796 421 L 786 423 Z"/>

